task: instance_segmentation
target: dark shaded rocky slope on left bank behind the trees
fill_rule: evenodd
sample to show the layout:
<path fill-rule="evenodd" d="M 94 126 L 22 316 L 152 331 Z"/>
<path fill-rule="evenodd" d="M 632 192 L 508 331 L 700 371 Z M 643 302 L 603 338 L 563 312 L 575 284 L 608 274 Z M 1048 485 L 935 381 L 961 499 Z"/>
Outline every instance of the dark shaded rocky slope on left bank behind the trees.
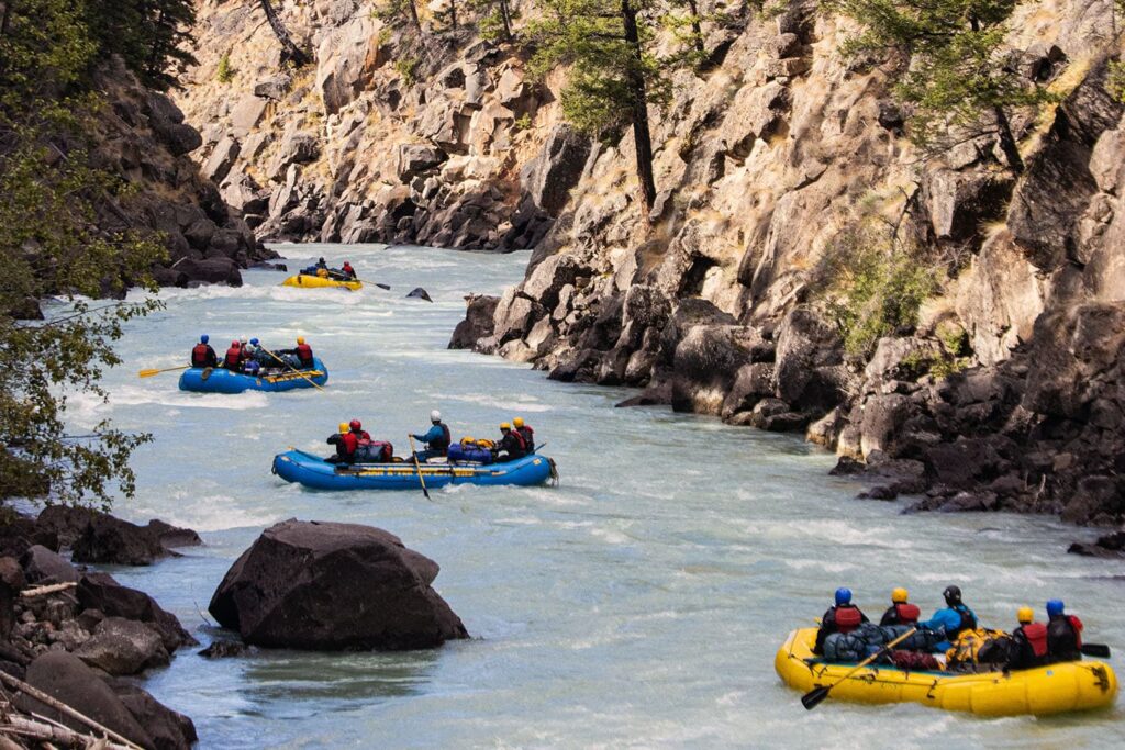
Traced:
<path fill-rule="evenodd" d="M 105 232 L 160 232 L 169 260 L 153 270 L 163 286 L 242 282 L 238 269 L 272 256 L 241 214 L 188 156 L 202 144 L 183 112 L 110 60 L 94 76 L 108 106 L 98 111 L 91 159 L 133 188 L 128 200 L 99 207 Z"/>

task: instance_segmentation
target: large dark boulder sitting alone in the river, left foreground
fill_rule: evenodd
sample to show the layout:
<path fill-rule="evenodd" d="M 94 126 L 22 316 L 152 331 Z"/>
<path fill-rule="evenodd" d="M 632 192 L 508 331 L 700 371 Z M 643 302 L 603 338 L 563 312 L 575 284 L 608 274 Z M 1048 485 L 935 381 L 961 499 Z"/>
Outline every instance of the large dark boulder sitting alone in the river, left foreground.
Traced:
<path fill-rule="evenodd" d="M 242 553 L 208 609 L 255 645 L 435 648 L 468 638 L 430 587 L 438 570 L 380 528 L 290 518 Z"/>

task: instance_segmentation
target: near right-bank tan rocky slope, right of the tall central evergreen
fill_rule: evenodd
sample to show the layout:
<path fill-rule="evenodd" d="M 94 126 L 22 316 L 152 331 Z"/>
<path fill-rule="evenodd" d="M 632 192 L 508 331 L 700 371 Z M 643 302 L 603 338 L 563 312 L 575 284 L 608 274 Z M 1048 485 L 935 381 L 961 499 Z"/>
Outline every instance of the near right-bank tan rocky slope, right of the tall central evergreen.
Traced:
<path fill-rule="evenodd" d="M 1120 524 L 1125 130 L 1116 42 L 1094 30 L 1110 18 L 1017 11 L 1014 64 L 1059 102 L 1022 115 L 1016 174 L 987 135 L 918 168 L 886 74 L 848 67 L 849 29 L 814 3 L 742 16 L 655 127 L 657 208 L 638 210 L 628 139 L 593 146 L 524 282 L 471 299 L 451 345 L 803 433 L 911 509 Z M 868 220 L 939 283 L 861 349 L 825 289 L 860 272 L 834 257 Z"/>

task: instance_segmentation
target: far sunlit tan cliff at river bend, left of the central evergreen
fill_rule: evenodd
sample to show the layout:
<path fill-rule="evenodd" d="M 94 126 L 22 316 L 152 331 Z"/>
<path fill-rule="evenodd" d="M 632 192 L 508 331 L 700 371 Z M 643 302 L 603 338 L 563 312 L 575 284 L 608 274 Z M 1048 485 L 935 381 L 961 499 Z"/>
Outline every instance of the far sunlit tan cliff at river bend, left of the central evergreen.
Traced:
<path fill-rule="evenodd" d="M 200 64 L 178 101 L 201 127 L 204 173 L 267 240 L 536 244 L 549 217 L 520 202 L 520 170 L 547 137 L 550 94 L 511 51 L 466 29 L 418 40 L 376 4 L 276 3 L 315 53 L 295 69 L 258 2 L 201 2 Z"/>

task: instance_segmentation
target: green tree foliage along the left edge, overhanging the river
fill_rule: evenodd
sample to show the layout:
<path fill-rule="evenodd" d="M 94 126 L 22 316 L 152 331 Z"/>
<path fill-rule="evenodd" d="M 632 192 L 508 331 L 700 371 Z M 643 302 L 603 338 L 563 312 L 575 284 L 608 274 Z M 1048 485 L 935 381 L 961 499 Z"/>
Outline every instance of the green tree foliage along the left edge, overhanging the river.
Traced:
<path fill-rule="evenodd" d="M 0 3 L 0 498 L 108 505 L 114 484 L 133 493 L 128 458 L 146 440 L 108 422 L 80 435 L 65 428 L 68 399 L 105 396 L 102 369 L 119 361 L 111 342 L 156 306 L 89 299 L 144 282 L 163 254 L 155 237 L 102 228 L 129 190 L 89 157 L 96 112 L 108 106 L 91 72 L 119 54 L 159 83 L 182 57 L 168 47 L 174 36 L 148 24 L 160 18 L 158 2 L 132 16 L 141 27 L 115 27 L 128 13 L 91 24 L 115 2 Z M 47 296 L 63 306 L 43 319 L 37 300 Z"/>

